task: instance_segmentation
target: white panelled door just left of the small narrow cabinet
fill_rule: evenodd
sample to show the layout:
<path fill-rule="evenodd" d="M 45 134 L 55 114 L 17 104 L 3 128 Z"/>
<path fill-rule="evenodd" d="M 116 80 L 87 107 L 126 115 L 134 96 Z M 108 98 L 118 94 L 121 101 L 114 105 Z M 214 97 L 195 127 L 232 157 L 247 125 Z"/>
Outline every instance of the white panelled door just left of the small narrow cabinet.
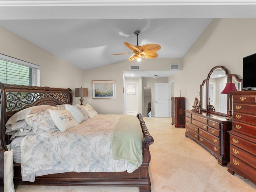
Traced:
<path fill-rule="evenodd" d="M 169 83 L 155 83 L 155 117 L 169 117 Z"/>

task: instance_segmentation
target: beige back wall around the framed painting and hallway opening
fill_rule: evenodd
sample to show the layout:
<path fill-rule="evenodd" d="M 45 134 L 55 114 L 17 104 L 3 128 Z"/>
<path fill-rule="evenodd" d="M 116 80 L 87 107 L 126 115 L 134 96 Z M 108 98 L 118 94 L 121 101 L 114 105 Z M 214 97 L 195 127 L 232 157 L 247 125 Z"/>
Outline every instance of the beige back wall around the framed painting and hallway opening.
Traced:
<path fill-rule="evenodd" d="M 123 71 L 130 70 L 131 65 L 139 65 L 140 70 L 170 70 L 170 64 L 180 64 L 182 68 L 180 58 L 166 58 L 166 59 L 144 59 L 140 62 L 130 62 L 128 60 L 117 62 L 101 66 L 98 68 L 92 68 L 84 71 L 84 87 L 88 88 L 88 97 L 84 98 L 84 103 L 90 104 L 99 114 L 122 114 L 124 112 L 124 94 L 123 94 Z M 153 78 L 151 81 L 153 81 Z M 92 99 L 92 80 L 116 80 L 116 99 Z M 165 78 L 164 82 L 167 78 Z M 156 79 L 155 82 L 160 82 L 161 78 Z M 140 85 L 141 89 L 147 85 Z M 153 86 L 150 83 L 150 86 Z M 154 91 L 154 86 L 152 87 Z M 154 96 L 153 96 L 154 98 Z M 141 101 L 140 103 L 143 103 Z M 140 104 L 141 106 L 142 104 Z M 142 106 L 139 108 L 139 112 L 142 111 Z"/>

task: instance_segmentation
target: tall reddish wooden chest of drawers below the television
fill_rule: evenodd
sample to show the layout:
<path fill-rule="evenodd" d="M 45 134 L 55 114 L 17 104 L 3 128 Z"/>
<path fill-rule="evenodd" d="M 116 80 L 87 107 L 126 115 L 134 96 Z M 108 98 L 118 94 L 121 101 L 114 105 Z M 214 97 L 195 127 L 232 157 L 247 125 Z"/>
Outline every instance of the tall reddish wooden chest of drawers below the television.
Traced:
<path fill-rule="evenodd" d="M 233 128 L 230 133 L 228 172 L 256 184 L 256 91 L 230 92 Z"/>

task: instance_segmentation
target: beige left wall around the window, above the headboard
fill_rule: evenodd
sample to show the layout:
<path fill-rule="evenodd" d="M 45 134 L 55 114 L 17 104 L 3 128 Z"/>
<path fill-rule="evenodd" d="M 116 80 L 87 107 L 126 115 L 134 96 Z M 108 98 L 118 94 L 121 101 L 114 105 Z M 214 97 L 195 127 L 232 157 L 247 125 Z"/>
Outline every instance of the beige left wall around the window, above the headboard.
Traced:
<path fill-rule="evenodd" d="M 0 27 L 0 54 L 40 66 L 40 86 L 71 88 L 83 86 L 83 71 Z M 73 97 L 75 103 L 79 98 Z"/>

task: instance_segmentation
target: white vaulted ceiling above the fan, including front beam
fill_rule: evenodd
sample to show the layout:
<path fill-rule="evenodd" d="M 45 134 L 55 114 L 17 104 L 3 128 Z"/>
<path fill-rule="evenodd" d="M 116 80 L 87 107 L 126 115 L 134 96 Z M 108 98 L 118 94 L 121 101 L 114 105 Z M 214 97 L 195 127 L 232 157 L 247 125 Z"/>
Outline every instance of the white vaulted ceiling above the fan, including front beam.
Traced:
<path fill-rule="evenodd" d="M 0 26 L 86 70 L 128 60 L 112 54 L 130 52 L 136 30 L 139 45 L 160 44 L 158 58 L 182 58 L 212 18 L 255 10 L 255 0 L 1 0 Z"/>

